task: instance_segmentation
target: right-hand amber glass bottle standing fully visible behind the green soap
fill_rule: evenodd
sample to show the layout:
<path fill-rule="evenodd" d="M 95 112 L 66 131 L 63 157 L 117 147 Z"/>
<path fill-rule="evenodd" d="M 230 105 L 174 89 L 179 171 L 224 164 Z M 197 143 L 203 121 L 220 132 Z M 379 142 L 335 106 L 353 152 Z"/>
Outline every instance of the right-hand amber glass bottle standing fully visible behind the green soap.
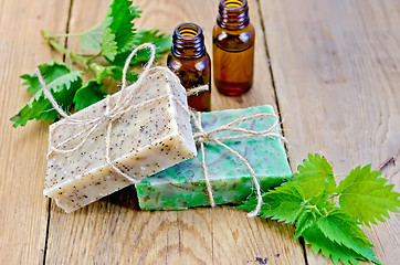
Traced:
<path fill-rule="evenodd" d="M 224 95 L 239 96 L 253 85 L 255 32 L 246 0 L 221 0 L 212 32 L 214 83 Z"/>

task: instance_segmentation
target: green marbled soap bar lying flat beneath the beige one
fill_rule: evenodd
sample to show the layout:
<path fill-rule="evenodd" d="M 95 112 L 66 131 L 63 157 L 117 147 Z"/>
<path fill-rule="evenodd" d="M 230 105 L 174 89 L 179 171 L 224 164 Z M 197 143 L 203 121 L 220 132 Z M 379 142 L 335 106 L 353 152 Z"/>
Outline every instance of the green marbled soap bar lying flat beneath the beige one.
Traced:
<path fill-rule="evenodd" d="M 204 131 L 209 131 L 234 119 L 259 113 L 274 114 L 274 109 L 270 105 L 262 105 L 245 109 L 202 113 L 201 123 Z M 259 117 L 235 126 L 262 131 L 273 126 L 274 121 L 273 117 Z M 278 132 L 277 128 L 275 132 Z M 220 131 L 214 136 L 227 137 L 240 134 L 242 132 Z M 292 171 L 281 139 L 254 136 L 223 142 L 249 161 L 263 191 L 277 187 L 291 178 Z M 241 203 L 253 191 L 255 192 L 249 169 L 234 155 L 213 142 L 204 142 L 204 153 L 217 204 Z M 136 184 L 136 191 L 139 205 L 145 210 L 182 210 L 210 205 L 199 146 L 197 157 L 144 179 Z"/>

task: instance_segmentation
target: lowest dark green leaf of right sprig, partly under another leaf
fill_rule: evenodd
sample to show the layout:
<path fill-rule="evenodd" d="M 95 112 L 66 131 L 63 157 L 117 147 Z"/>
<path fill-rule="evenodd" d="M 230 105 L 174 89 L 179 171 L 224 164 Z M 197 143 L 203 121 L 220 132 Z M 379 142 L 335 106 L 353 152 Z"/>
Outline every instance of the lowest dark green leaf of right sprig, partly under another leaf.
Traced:
<path fill-rule="evenodd" d="M 341 262 L 343 264 L 359 264 L 357 259 L 365 261 L 361 255 L 355 251 L 339 245 L 336 242 L 330 241 L 324 235 L 316 224 L 308 226 L 302 233 L 305 243 L 310 244 L 315 254 L 322 252 L 326 257 L 330 257 L 335 264 Z"/>

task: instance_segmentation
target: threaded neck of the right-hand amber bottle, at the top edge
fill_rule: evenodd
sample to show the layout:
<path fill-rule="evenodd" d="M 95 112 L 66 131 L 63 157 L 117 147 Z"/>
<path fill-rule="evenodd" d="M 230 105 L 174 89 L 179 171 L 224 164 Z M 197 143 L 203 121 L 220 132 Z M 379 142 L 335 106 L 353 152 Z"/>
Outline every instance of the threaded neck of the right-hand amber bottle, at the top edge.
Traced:
<path fill-rule="evenodd" d="M 248 0 L 221 0 L 217 23 L 228 30 L 239 30 L 250 23 Z"/>

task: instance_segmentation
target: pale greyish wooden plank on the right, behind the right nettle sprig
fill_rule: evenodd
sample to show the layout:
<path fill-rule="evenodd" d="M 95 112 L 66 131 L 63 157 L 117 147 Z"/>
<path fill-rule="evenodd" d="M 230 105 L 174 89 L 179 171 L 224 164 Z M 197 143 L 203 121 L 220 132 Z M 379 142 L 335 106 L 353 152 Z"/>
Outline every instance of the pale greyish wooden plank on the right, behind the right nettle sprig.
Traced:
<path fill-rule="evenodd" d="M 260 1 L 290 159 L 324 153 L 337 174 L 400 151 L 400 2 Z M 400 188 L 400 163 L 382 177 Z M 398 264 L 399 214 L 366 233 Z M 309 264 L 330 263 L 307 248 Z"/>

